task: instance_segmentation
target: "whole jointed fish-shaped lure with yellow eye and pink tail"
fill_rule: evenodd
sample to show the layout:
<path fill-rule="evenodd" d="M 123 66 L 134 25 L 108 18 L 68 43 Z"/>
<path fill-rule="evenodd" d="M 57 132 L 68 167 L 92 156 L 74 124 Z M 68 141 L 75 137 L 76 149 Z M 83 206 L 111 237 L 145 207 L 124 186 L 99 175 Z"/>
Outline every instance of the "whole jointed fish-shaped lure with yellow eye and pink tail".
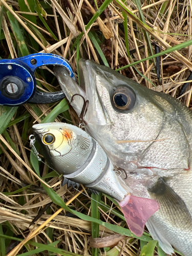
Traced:
<path fill-rule="evenodd" d="M 146 221 L 159 209 L 159 204 L 131 195 L 132 189 L 117 176 L 113 163 L 97 141 L 68 123 L 35 124 L 32 129 L 50 167 L 65 177 L 63 184 L 78 187 L 81 183 L 92 193 L 102 192 L 114 198 L 130 230 L 142 236 Z"/>

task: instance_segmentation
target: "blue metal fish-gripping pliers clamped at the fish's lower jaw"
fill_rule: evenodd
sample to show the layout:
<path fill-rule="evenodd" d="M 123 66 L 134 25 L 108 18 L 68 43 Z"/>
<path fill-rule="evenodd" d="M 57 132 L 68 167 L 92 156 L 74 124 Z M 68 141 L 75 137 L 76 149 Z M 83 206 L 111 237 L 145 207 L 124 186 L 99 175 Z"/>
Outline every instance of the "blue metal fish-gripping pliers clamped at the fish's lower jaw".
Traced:
<path fill-rule="evenodd" d="M 35 53 L 16 59 L 0 60 L 0 105 L 19 106 L 25 103 L 45 104 L 65 98 L 60 92 L 45 93 L 36 90 L 34 72 L 41 66 L 65 67 L 75 79 L 70 63 L 55 54 Z"/>

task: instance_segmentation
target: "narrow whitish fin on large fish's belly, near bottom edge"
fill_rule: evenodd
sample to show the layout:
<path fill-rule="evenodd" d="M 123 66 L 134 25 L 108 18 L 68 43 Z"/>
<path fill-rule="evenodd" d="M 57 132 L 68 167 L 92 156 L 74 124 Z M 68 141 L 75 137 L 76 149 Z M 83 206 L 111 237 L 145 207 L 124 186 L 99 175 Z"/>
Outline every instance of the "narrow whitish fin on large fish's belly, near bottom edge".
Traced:
<path fill-rule="evenodd" d="M 147 220 L 146 227 L 150 232 L 151 236 L 153 237 L 153 239 L 159 242 L 159 245 L 161 246 L 162 250 L 165 253 L 172 255 L 172 253 L 174 253 L 172 245 L 162 236 L 161 232 L 156 227 L 155 222 L 152 220 L 152 218 Z"/>

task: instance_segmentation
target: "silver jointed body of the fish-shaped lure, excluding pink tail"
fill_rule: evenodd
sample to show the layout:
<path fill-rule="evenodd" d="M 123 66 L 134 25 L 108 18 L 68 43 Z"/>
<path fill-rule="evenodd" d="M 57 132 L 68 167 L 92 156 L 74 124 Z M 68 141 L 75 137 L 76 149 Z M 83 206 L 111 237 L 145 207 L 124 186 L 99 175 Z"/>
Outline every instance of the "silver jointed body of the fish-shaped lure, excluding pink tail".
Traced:
<path fill-rule="evenodd" d="M 132 191 L 116 175 L 102 147 L 78 127 L 67 123 L 35 124 L 33 132 L 50 166 L 65 178 L 119 202 Z"/>

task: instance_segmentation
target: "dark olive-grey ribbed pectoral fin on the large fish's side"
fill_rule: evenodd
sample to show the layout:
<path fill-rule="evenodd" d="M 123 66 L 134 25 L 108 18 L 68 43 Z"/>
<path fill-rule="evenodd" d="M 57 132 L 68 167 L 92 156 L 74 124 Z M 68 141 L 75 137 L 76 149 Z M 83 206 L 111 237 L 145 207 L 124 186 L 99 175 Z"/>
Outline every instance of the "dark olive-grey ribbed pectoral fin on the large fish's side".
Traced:
<path fill-rule="evenodd" d="M 163 178 L 159 178 L 156 184 L 148 187 L 147 190 L 151 198 L 163 206 L 162 215 L 166 215 L 167 221 L 172 226 L 191 228 L 192 218 L 185 202 Z"/>

